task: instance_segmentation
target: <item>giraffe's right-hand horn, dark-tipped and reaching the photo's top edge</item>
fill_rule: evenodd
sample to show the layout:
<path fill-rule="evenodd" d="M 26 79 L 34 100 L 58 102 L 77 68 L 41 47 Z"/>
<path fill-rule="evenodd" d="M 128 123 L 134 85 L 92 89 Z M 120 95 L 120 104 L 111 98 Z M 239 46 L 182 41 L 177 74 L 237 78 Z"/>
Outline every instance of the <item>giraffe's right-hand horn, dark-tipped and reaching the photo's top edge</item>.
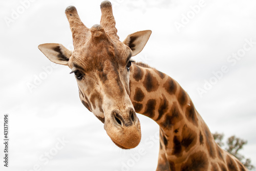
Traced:
<path fill-rule="evenodd" d="M 115 27 L 116 21 L 113 16 L 111 3 L 109 1 L 103 1 L 100 4 L 100 9 L 101 9 L 100 25 L 104 28 L 106 32 L 109 33 L 109 35 L 119 39 L 119 36 L 117 35 L 117 29 Z"/>

